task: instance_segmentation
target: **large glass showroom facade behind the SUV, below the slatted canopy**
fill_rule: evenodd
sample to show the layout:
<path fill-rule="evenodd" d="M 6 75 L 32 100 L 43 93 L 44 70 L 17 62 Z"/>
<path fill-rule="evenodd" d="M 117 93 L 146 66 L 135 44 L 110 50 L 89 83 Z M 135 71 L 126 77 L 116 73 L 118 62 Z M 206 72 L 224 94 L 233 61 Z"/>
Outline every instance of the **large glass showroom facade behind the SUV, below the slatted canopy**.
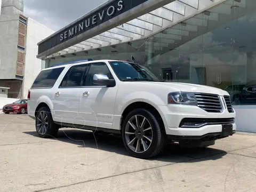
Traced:
<path fill-rule="evenodd" d="M 87 58 L 133 61 L 165 81 L 218 87 L 233 105 L 256 105 L 255 10 L 255 0 L 224 1 L 147 39 L 47 59 L 45 66 Z"/>

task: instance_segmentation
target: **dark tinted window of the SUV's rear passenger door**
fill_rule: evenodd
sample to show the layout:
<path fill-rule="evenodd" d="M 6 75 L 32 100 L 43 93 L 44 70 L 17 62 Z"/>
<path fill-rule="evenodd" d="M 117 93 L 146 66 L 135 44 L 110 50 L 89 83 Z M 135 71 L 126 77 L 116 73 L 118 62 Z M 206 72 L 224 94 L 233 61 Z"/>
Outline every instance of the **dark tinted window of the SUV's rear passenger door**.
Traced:
<path fill-rule="evenodd" d="M 83 74 L 87 65 L 79 65 L 71 67 L 63 78 L 60 87 L 80 86 Z"/>

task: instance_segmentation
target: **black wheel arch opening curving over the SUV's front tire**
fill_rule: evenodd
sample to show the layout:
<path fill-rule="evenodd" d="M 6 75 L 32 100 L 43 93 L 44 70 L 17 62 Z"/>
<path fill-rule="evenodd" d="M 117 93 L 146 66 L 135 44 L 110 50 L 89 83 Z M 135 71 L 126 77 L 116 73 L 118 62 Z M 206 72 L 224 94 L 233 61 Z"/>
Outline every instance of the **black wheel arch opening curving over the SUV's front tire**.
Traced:
<path fill-rule="evenodd" d="M 167 125 L 167 122 L 165 122 L 164 119 L 162 118 L 163 114 L 161 113 L 161 111 L 158 109 L 157 106 L 153 106 L 150 103 L 145 102 L 145 101 L 135 101 L 135 102 L 130 103 L 130 105 L 126 106 L 126 108 L 124 109 L 124 111 L 121 115 L 120 130 L 122 130 L 122 124 L 123 124 L 125 117 L 132 110 L 139 109 L 139 108 L 147 109 L 147 110 L 153 112 L 156 115 L 158 121 L 161 123 L 161 129 L 163 129 L 164 133 L 166 133 L 165 126 Z"/>

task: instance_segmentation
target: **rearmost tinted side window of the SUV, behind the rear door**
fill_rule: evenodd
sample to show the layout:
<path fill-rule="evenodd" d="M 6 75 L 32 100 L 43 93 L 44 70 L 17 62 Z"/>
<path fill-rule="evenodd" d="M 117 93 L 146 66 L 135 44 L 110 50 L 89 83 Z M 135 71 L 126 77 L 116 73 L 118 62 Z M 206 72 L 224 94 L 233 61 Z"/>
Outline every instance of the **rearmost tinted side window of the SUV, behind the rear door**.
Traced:
<path fill-rule="evenodd" d="M 42 70 L 36 77 L 31 88 L 51 88 L 57 81 L 64 67 Z"/>

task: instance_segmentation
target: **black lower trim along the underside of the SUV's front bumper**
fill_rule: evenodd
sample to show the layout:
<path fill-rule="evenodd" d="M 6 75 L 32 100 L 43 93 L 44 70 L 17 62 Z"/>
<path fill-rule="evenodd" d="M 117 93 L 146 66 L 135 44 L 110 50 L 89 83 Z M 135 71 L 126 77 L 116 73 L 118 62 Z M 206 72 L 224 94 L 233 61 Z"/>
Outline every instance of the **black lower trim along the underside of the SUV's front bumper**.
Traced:
<path fill-rule="evenodd" d="M 235 134 L 236 131 L 233 131 L 233 134 Z M 226 138 L 222 136 L 222 132 L 217 132 L 217 133 L 207 133 L 201 136 L 180 136 L 180 135 L 167 135 L 167 138 L 170 140 L 175 140 L 175 141 L 191 141 L 191 140 L 204 140 L 204 141 L 209 141 L 209 140 L 217 140 L 217 139 L 222 139 Z"/>

